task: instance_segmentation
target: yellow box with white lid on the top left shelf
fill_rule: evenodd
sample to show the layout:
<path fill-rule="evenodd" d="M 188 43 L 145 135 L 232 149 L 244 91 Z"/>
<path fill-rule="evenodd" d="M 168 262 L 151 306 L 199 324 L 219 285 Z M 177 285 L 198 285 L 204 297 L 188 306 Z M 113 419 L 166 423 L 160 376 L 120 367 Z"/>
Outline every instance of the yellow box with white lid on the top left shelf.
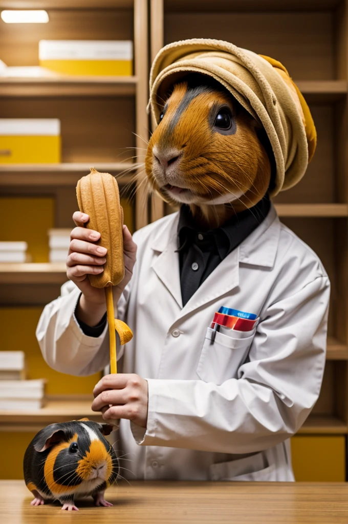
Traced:
<path fill-rule="evenodd" d="M 133 42 L 130 40 L 40 40 L 42 67 L 61 74 L 130 76 Z"/>

